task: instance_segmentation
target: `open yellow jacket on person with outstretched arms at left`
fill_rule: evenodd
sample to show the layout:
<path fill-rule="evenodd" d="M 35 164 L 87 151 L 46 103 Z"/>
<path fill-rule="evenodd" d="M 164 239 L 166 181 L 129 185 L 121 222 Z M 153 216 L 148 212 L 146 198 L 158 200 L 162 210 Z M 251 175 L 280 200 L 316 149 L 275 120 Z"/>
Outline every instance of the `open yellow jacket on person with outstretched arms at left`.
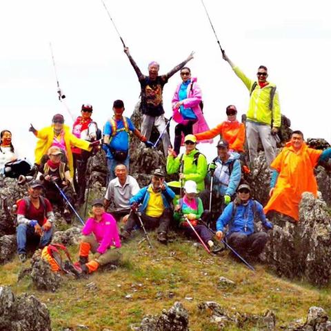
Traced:
<path fill-rule="evenodd" d="M 72 159 L 71 146 L 81 148 L 82 150 L 91 150 L 90 142 L 79 139 L 70 132 L 68 126 L 63 126 L 64 130 L 64 142 L 66 143 L 66 152 L 68 157 L 68 167 L 70 174 L 74 177 L 74 161 Z M 38 130 L 35 134 L 38 139 L 36 149 L 34 150 L 35 163 L 40 164 L 43 155 L 47 154 L 48 149 L 52 146 L 54 140 L 54 129 L 52 126 L 47 126 L 41 130 Z"/>

